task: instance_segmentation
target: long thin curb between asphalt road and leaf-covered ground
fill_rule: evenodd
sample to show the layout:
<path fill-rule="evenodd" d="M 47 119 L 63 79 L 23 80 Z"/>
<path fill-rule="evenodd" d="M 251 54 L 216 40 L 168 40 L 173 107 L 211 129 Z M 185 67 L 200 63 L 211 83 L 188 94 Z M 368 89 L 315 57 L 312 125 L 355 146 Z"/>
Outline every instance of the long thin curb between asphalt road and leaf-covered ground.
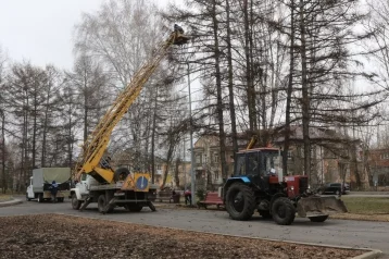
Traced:
<path fill-rule="evenodd" d="M 199 234 L 222 235 L 222 236 L 229 236 L 229 237 L 260 239 L 260 240 L 267 240 L 267 242 L 280 242 L 280 243 L 298 244 L 298 245 L 305 245 L 305 246 L 316 246 L 316 247 L 327 247 L 327 248 L 339 248 L 339 249 L 365 251 L 364 254 L 353 257 L 351 259 L 375 259 L 375 258 L 379 258 L 379 256 L 381 256 L 381 254 L 382 254 L 381 250 L 371 249 L 371 248 L 353 248 L 353 247 L 348 247 L 348 246 L 335 246 L 335 245 L 324 245 L 324 244 L 315 244 L 315 243 L 304 243 L 304 242 L 292 242 L 292 240 L 243 236 L 243 235 L 230 235 L 230 234 L 214 233 L 214 232 L 206 232 L 206 231 L 185 230 L 185 229 L 171 227 L 171 226 L 155 226 L 155 225 L 145 224 L 145 223 L 134 223 L 134 222 L 126 222 L 126 221 L 120 221 L 120 220 L 110 220 L 110 219 L 100 219 L 100 218 L 92 218 L 92 217 L 85 217 L 85 215 L 65 214 L 65 213 L 60 213 L 60 212 L 57 212 L 53 214 L 71 215 L 71 217 L 84 218 L 84 219 L 105 220 L 105 221 L 120 222 L 120 223 L 125 223 L 125 224 L 147 225 L 147 226 L 152 226 L 152 227 L 163 227 L 163 229 L 168 229 L 168 230 L 186 231 L 186 232 L 192 232 L 192 233 L 199 233 Z"/>

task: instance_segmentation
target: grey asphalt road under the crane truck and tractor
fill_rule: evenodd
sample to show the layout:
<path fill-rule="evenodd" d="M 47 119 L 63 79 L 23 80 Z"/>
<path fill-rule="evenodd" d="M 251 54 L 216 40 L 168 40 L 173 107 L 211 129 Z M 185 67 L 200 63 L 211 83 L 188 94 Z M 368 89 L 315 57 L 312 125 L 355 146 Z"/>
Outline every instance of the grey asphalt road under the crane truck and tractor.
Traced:
<path fill-rule="evenodd" d="M 374 248 L 385 254 L 382 258 L 389 258 L 389 224 L 385 222 L 329 219 L 323 223 L 313 223 L 308 219 L 296 219 L 292 225 L 280 226 L 272 220 L 263 220 L 261 217 L 254 217 L 253 220 L 248 222 L 240 222 L 230 220 L 225 211 L 163 208 L 158 209 L 156 212 L 151 212 L 148 208 L 145 208 L 141 212 L 127 212 L 118 208 L 114 212 L 103 215 L 97 211 L 93 203 L 83 212 L 73 210 L 68 200 L 63 203 L 25 201 L 22 205 L 0 208 L 0 217 L 37 213 L 64 213 L 184 230 Z"/>

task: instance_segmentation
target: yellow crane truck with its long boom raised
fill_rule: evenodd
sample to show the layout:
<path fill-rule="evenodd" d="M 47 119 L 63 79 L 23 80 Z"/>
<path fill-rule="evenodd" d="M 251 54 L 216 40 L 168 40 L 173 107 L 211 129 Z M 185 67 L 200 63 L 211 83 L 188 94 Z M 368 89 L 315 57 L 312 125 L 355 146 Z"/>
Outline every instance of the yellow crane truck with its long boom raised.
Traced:
<path fill-rule="evenodd" d="M 158 186 L 150 183 L 150 173 L 129 172 L 127 168 L 114 170 L 108 165 L 103 155 L 113 128 L 137 99 L 168 49 L 175 45 L 184 45 L 188 39 L 184 30 L 175 25 L 174 32 L 133 76 L 84 143 L 83 155 L 73 172 L 76 183 L 70 196 L 73 209 L 84 210 L 89 203 L 97 202 L 101 213 L 111 212 L 115 207 L 124 207 L 129 211 L 149 207 L 155 211 L 152 198 L 156 195 Z"/>

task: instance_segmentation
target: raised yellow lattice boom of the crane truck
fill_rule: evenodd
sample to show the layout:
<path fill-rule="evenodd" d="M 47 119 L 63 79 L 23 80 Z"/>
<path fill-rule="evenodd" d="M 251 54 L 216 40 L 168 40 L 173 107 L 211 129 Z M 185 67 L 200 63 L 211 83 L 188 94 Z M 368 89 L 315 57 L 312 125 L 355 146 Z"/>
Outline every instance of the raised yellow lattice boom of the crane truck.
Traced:
<path fill-rule="evenodd" d="M 90 174 L 100 183 L 112 183 L 114 172 L 100 165 L 101 158 L 108 147 L 113 128 L 122 120 L 129 107 L 139 96 L 145 84 L 159 66 L 167 50 L 173 45 L 186 44 L 188 37 L 181 32 L 173 32 L 167 40 L 163 41 L 151 59 L 133 76 L 127 87 L 117 96 L 116 100 L 83 145 L 83 156 L 75 166 L 75 178 L 79 180 L 83 173 Z"/>

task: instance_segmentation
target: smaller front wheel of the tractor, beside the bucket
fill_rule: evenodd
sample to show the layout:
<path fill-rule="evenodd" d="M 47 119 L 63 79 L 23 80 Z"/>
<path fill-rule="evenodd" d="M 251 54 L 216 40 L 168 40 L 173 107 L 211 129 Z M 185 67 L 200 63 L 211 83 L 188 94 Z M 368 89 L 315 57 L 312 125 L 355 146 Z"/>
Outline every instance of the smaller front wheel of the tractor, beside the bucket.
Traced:
<path fill-rule="evenodd" d="M 290 199 L 279 197 L 273 202 L 272 214 L 279 225 L 290 225 L 294 221 L 296 209 Z"/>

